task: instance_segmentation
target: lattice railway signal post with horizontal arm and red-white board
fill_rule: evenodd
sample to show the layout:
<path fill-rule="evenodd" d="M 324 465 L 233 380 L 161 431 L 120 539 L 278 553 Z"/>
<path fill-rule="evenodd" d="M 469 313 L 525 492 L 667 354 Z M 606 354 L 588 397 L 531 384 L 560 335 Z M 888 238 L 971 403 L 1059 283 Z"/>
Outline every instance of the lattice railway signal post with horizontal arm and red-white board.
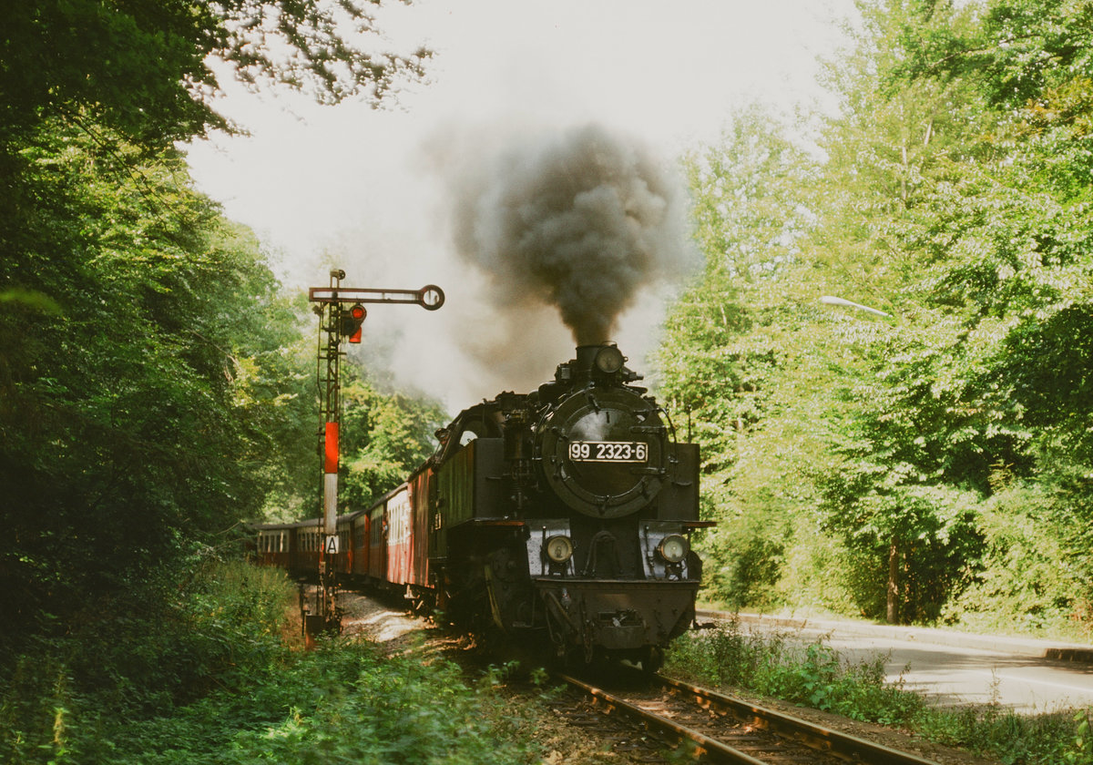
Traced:
<path fill-rule="evenodd" d="M 365 303 L 393 303 L 420 305 L 426 310 L 436 310 L 444 305 L 444 291 L 435 284 L 421 290 L 376 290 L 373 287 L 343 287 L 341 280 L 345 272 L 330 272 L 330 285 L 312 287 L 307 298 L 315 305 L 313 310 L 319 317 L 319 350 L 317 377 L 319 381 L 319 413 L 322 429 L 319 431 L 320 454 L 322 455 L 322 533 L 319 549 L 319 587 L 314 612 L 304 605 L 304 633 L 337 632 L 341 628 L 341 612 L 334 603 L 333 556 L 339 551 L 338 542 L 338 436 L 341 421 L 341 350 L 342 338 L 351 343 L 361 342 L 362 325 L 368 315 Z"/>

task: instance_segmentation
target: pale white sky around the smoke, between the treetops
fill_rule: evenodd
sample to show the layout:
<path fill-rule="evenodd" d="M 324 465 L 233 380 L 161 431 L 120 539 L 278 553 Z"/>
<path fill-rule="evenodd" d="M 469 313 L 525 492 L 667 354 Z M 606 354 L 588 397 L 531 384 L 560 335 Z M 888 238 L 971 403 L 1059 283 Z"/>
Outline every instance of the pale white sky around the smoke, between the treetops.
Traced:
<path fill-rule="evenodd" d="M 435 51 L 428 80 L 403 86 L 398 105 L 319 107 L 284 93 L 226 87 L 219 108 L 250 131 L 196 143 L 198 188 L 273 251 L 286 285 L 326 285 L 331 263 L 346 285 L 444 287 L 438 311 L 376 306 L 374 344 L 415 343 L 418 356 L 455 369 L 444 337 L 474 331 L 473 281 L 447 243 L 444 200 L 421 162 L 423 142 L 457 131 L 492 140 L 496 126 L 567 127 L 598 121 L 634 134 L 671 160 L 716 141 L 733 108 L 764 101 L 814 104 L 815 58 L 839 39 L 853 0 L 415 0 L 383 9 L 389 47 Z M 463 289 L 466 287 L 466 290 Z M 656 301 L 627 322 L 620 348 L 655 344 Z M 391 317 L 381 314 L 391 314 Z M 572 355 L 568 332 L 544 339 L 546 379 Z M 625 337 L 626 334 L 631 337 Z M 366 342 L 367 340 L 366 334 Z M 628 341 L 630 345 L 624 344 Z M 395 354 L 401 369 L 418 361 Z M 422 365 L 421 368 L 424 368 Z M 453 381 L 410 374 L 460 409 L 501 380 Z M 433 376 L 435 377 L 435 375 Z M 504 385 L 519 390 L 522 381 Z"/>

